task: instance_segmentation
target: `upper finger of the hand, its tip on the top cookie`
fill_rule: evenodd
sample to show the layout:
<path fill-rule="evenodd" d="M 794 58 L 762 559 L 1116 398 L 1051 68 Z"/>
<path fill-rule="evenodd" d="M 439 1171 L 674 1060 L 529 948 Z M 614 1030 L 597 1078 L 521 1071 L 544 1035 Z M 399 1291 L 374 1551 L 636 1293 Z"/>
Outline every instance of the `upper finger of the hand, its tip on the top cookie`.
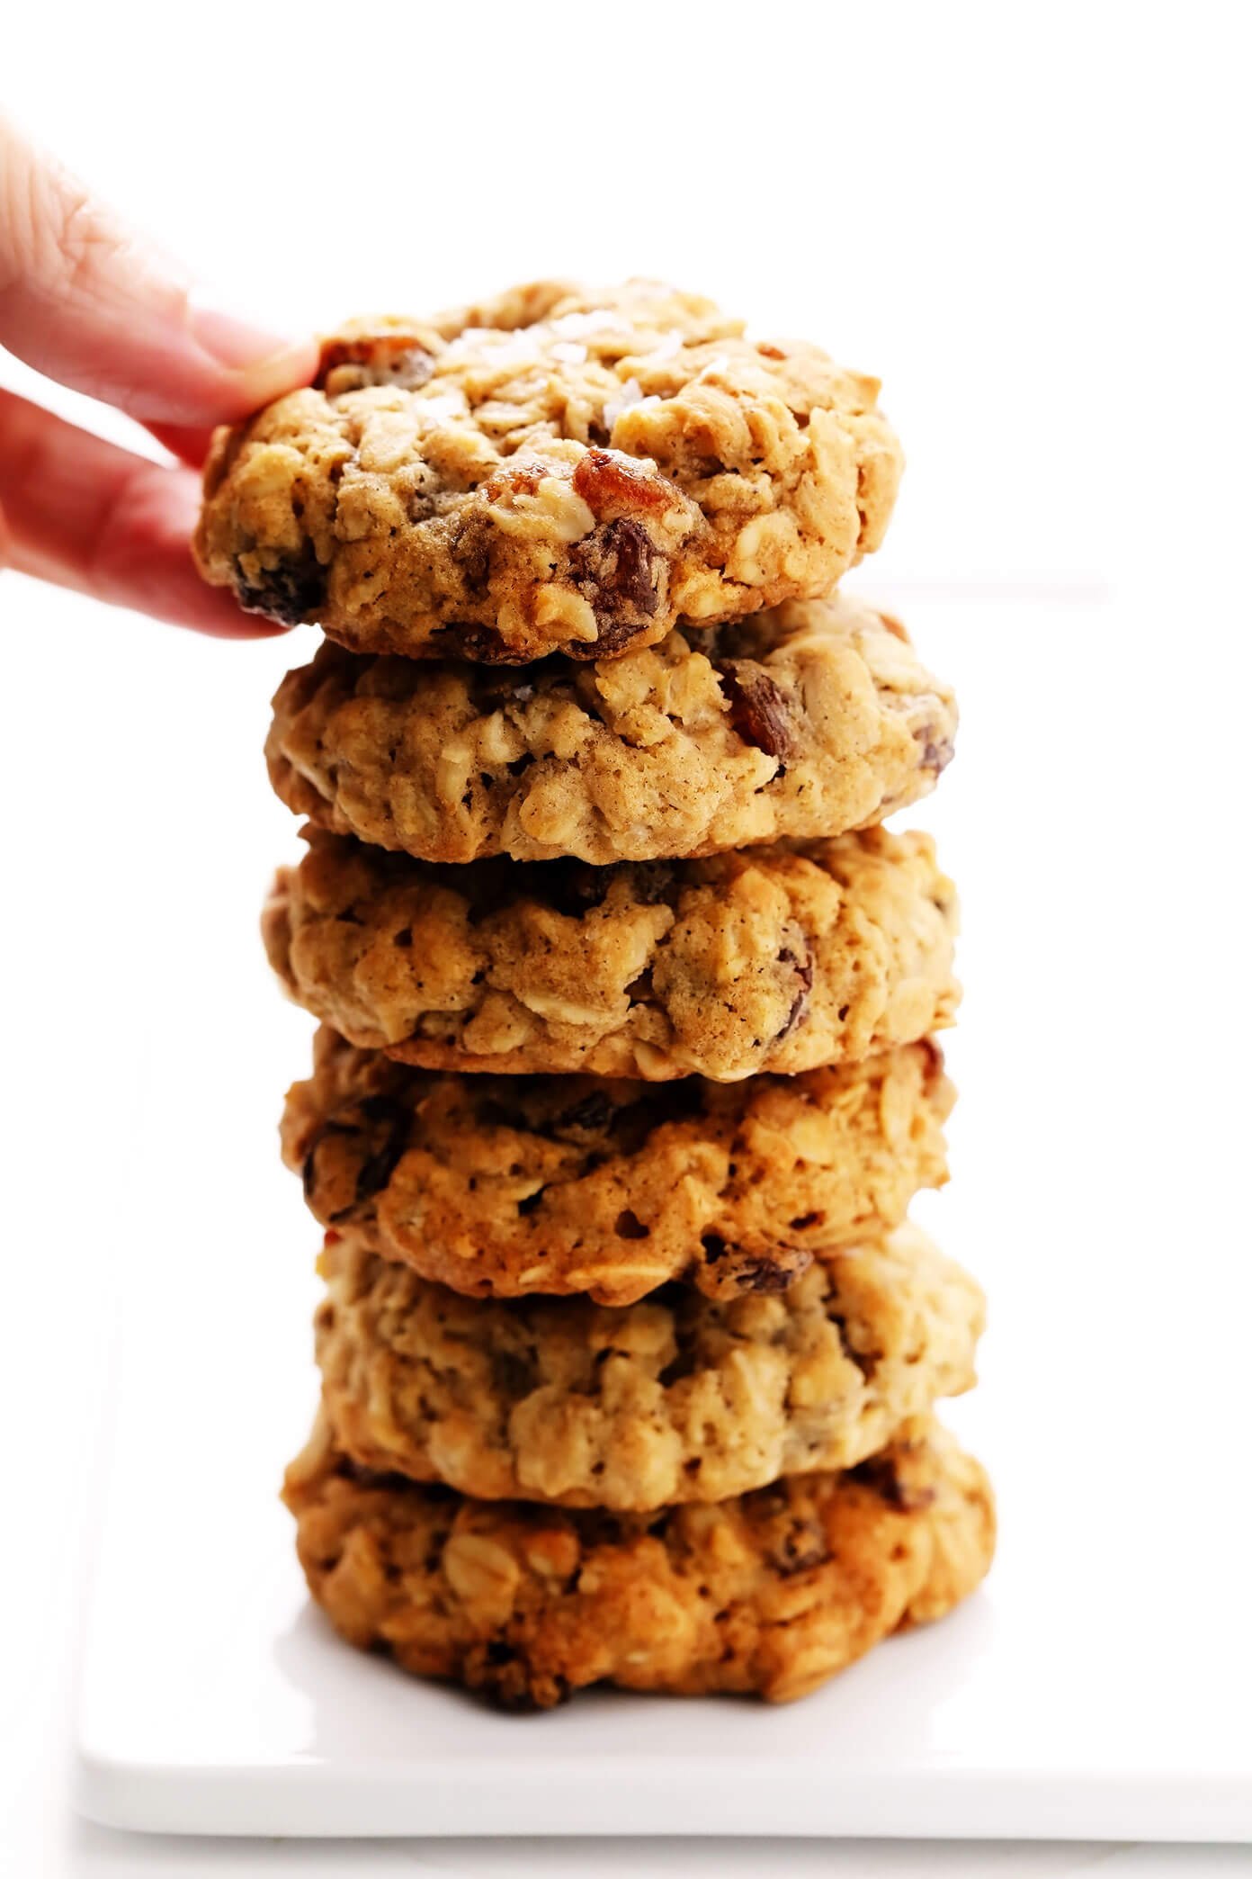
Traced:
<path fill-rule="evenodd" d="M 4 118 L 0 346 L 146 425 L 246 417 L 317 368 L 312 338 L 199 306 L 171 261 Z"/>

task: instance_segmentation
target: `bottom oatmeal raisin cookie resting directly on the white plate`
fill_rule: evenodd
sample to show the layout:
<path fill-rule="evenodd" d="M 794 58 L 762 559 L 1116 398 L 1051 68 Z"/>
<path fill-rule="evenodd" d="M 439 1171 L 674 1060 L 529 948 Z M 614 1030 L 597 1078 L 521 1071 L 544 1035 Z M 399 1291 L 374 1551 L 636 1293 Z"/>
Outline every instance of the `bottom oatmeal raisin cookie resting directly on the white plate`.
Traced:
<path fill-rule="evenodd" d="M 370 1473 L 319 1417 L 283 1499 L 349 1644 L 520 1710 L 599 1682 L 803 1697 L 952 1610 L 995 1546 L 985 1473 L 929 1419 L 845 1473 L 631 1516 Z"/>

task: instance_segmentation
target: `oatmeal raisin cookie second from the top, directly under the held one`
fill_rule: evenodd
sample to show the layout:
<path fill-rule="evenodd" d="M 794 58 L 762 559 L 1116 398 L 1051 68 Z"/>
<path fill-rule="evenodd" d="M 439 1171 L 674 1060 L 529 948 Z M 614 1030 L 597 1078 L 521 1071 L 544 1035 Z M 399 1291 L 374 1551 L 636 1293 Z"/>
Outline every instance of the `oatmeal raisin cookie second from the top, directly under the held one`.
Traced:
<path fill-rule="evenodd" d="M 886 614 L 835 596 L 522 673 L 323 644 L 274 699 L 300 815 L 422 861 L 657 861 L 865 829 L 927 795 L 955 703 Z"/>

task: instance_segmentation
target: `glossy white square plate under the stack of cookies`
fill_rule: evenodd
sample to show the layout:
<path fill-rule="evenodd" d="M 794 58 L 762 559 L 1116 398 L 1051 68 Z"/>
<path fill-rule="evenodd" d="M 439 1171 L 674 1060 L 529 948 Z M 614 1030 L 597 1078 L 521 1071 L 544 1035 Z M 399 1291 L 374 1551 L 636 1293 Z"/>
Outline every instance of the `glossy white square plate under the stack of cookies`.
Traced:
<path fill-rule="evenodd" d="M 918 1214 L 993 1304 L 984 1387 L 952 1411 L 1000 1490 L 987 1588 L 786 1710 L 593 1695 L 501 1717 L 330 1637 L 276 1501 L 313 1404 L 315 1231 L 272 1133 L 306 1026 L 255 958 L 231 844 L 259 879 L 272 834 L 240 785 L 212 891 L 203 857 L 169 870 L 176 945 L 152 949 L 145 996 L 86 1813 L 208 1834 L 1252 1836 L 1246 1052 L 1224 1041 L 1246 956 L 1183 924 L 1169 885 L 1205 904 L 1218 832 L 1169 849 L 1160 815 L 1085 814 L 1121 778 L 1102 701 L 1137 618 L 925 611 L 965 705 L 935 819 L 969 998 L 955 1178 Z M 1032 686 L 1023 643 L 1049 648 Z M 1220 1022 L 1177 1028 L 1209 983 Z"/>

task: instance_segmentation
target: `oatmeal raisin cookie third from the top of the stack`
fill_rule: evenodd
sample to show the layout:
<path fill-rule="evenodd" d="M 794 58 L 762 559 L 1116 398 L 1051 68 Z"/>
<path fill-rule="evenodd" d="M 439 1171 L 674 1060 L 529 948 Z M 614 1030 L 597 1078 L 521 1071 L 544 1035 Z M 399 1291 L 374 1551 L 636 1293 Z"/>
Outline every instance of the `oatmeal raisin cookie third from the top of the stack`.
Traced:
<path fill-rule="evenodd" d="M 955 1011 L 925 834 L 610 868 L 306 834 L 265 909 L 272 966 L 351 1043 L 428 1069 L 734 1082 L 856 1064 Z"/>

